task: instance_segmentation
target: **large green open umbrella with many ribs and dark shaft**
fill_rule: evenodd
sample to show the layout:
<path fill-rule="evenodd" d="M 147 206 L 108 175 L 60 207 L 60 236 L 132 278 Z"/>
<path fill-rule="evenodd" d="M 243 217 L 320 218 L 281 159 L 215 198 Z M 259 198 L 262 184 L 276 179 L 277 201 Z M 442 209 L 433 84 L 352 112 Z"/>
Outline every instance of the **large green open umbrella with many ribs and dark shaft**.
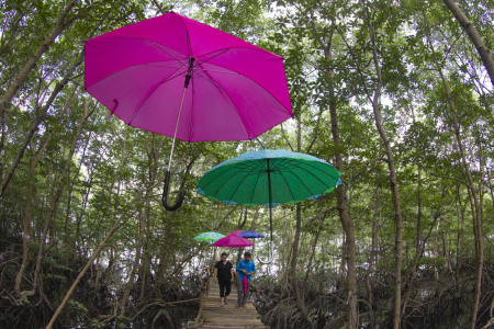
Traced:
<path fill-rule="evenodd" d="M 263 149 L 220 163 L 209 170 L 197 185 L 198 193 L 212 200 L 246 206 L 268 205 L 272 256 L 271 207 L 330 193 L 341 183 L 340 175 L 330 163 L 316 157 Z"/>

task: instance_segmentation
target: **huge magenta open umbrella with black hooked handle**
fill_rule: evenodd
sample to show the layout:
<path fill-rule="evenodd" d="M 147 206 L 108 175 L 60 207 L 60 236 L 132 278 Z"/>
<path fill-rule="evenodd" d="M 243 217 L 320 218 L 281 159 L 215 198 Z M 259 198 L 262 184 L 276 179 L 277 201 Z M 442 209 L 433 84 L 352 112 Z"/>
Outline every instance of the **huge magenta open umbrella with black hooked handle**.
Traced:
<path fill-rule="evenodd" d="M 85 88 L 125 124 L 175 140 L 250 140 L 292 116 L 282 57 L 170 12 L 86 41 Z"/>

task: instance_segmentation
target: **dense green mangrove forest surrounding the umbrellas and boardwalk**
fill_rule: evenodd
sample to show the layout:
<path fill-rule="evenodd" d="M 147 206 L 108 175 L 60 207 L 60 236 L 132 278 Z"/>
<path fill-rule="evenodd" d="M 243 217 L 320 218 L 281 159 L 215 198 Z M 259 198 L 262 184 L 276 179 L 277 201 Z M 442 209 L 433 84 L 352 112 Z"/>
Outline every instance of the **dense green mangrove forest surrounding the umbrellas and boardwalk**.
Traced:
<path fill-rule="evenodd" d="M 252 294 L 265 325 L 494 326 L 493 7 L 0 1 L 0 328 L 186 326 L 217 258 L 193 237 L 256 230 L 254 259 L 271 256 L 268 207 L 197 193 L 211 168 L 265 148 L 343 173 L 272 208 L 273 262 L 257 263 Z M 251 140 L 177 140 L 175 212 L 172 138 L 85 89 L 87 39 L 170 11 L 282 56 L 293 111 Z"/>

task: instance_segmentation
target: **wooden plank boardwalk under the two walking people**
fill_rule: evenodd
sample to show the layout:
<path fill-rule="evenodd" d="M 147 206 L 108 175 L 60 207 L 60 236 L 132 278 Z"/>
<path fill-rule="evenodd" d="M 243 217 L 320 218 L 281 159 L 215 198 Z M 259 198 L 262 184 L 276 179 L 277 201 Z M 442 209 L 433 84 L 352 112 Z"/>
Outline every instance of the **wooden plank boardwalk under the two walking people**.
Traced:
<path fill-rule="evenodd" d="M 247 302 L 245 308 L 236 308 L 237 288 L 232 284 L 232 293 L 228 296 L 227 305 L 220 307 L 220 287 L 214 280 L 210 279 L 209 292 L 204 297 L 204 310 L 201 324 L 195 328 L 228 328 L 228 329 L 266 329 L 270 328 L 262 325 L 260 316 L 250 302 Z"/>

